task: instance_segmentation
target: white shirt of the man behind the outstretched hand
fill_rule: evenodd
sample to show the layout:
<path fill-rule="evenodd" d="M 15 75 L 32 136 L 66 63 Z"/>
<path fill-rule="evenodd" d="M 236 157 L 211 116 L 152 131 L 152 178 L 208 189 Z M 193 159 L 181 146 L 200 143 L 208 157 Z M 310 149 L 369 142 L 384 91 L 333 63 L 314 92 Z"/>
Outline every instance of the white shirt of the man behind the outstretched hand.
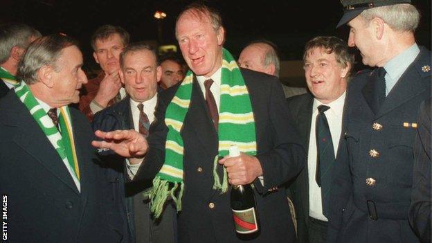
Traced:
<path fill-rule="evenodd" d="M 157 103 L 157 93 L 150 100 L 143 102 L 143 105 L 144 105 L 143 110 L 144 110 L 144 113 L 149 118 L 150 124 L 152 124 L 154 121 L 154 109 L 156 108 L 156 103 Z M 138 109 L 138 104 L 140 104 L 140 102 L 136 102 L 136 101 L 132 100 L 132 98 L 131 98 L 129 104 L 130 104 L 130 108 L 132 111 L 132 120 L 134 120 L 134 129 L 136 132 L 139 132 L 139 113 L 140 113 L 140 111 Z M 131 163 L 129 163 L 129 159 L 126 159 L 127 174 L 129 175 L 130 179 L 134 179 L 136 172 L 138 172 L 138 168 L 140 167 L 140 165 L 141 165 L 141 163 L 131 164 Z"/>

